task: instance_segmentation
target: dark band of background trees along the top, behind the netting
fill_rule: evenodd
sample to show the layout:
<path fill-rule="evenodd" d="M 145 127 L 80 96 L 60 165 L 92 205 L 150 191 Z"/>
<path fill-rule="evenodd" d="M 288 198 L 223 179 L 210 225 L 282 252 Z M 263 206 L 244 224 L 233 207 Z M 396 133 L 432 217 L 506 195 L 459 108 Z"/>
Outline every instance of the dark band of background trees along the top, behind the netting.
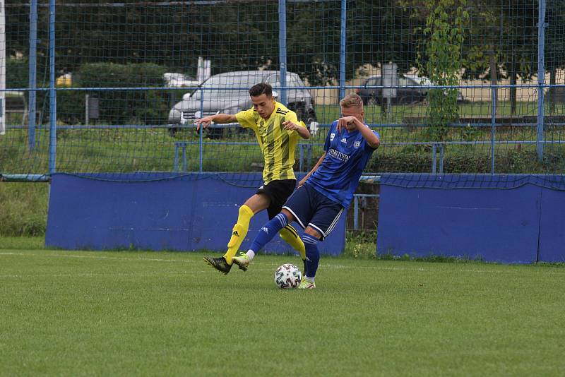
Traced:
<path fill-rule="evenodd" d="M 61 1 L 57 6 L 57 76 L 76 73 L 82 64 L 98 61 L 153 63 L 194 76 L 198 56 L 212 60 L 213 73 L 279 68 L 276 1 L 172 1 L 158 5 L 122 1 L 112 6 L 81 1 L 81 7 L 73 3 Z M 422 39 L 420 31 L 427 27 L 427 6 L 429 0 L 347 1 L 347 78 L 355 77 L 364 64 L 379 66 L 393 61 L 400 72 L 417 66 L 415 46 Z M 549 71 L 565 64 L 560 32 L 564 6 L 564 0 L 547 2 Z M 505 74 L 532 78 L 537 71 L 537 2 L 469 0 L 464 8 L 472 20 L 466 25 L 462 46 L 464 78 L 489 80 Z M 25 59 L 28 55 L 28 9 L 21 1 L 6 1 L 8 56 Z M 48 10 L 38 8 L 40 73 L 47 61 Z M 340 74 L 339 44 L 339 1 L 287 2 L 290 71 L 312 84 L 335 83 Z"/>

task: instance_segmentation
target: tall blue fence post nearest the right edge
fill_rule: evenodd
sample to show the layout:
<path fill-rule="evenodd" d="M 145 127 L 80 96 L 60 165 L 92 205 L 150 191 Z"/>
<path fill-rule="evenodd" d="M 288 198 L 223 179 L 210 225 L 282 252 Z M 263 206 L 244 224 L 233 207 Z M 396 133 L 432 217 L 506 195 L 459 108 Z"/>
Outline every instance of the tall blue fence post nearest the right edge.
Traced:
<path fill-rule="evenodd" d="M 538 1 L 537 15 L 537 160 L 543 160 L 545 86 L 545 0 Z"/>

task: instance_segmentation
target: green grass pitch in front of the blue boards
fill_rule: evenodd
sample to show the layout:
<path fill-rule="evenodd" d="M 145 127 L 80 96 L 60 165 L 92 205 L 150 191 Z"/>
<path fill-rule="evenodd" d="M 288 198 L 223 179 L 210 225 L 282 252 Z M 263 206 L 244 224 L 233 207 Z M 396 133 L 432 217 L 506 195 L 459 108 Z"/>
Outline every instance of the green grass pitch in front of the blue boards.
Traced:
<path fill-rule="evenodd" d="M 30 248 L 31 249 L 31 248 Z M 557 376 L 565 268 L 295 256 L 221 275 L 202 253 L 0 250 L 0 375 Z"/>

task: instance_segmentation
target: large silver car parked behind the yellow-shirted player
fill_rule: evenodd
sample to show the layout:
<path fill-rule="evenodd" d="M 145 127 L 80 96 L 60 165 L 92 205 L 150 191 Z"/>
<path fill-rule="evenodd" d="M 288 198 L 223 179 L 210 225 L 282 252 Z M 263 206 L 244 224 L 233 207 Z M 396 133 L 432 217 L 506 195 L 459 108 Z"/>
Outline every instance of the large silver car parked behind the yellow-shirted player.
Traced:
<path fill-rule="evenodd" d="M 191 125 L 194 120 L 213 114 L 236 114 L 250 109 L 251 98 L 249 88 L 257 83 L 269 83 L 273 92 L 280 93 L 279 71 L 237 71 L 220 73 L 204 81 L 200 88 L 182 96 L 182 101 L 174 105 L 169 112 L 169 124 Z M 304 89 L 287 89 L 287 107 L 296 112 L 298 119 L 307 125 L 316 121 L 314 100 L 304 83 L 296 73 L 287 72 L 287 87 Z M 201 99 L 201 96 L 203 98 Z M 174 135 L 179 128 L 170 127 Z M 213 126 L 208 131 L 209 137 L 219 137 L 221 129 Z"/>

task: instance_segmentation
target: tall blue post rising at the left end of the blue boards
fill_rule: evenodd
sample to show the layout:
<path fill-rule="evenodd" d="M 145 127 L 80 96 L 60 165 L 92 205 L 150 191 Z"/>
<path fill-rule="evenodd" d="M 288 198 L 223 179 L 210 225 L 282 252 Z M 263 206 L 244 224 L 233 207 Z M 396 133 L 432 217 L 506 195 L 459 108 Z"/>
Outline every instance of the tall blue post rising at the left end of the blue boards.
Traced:
<path fill-rule="evenodd" d="M 55 0 L 49 0 L 49 174 L 57 169 L 57 93 L 55 92 Z"/>

